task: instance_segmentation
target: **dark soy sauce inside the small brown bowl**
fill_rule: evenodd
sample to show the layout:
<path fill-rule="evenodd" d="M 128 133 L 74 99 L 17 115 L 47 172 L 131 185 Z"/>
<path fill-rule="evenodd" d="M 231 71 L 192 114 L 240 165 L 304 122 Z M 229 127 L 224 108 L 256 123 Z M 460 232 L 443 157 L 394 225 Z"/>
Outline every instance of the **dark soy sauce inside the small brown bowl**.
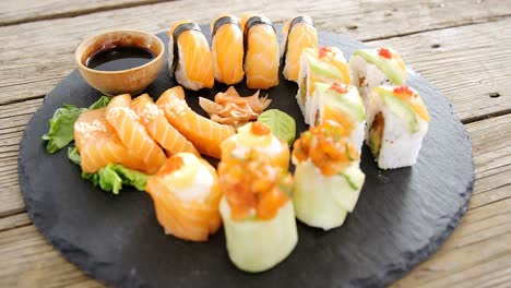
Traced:
<path fill-rule="evenodd" d="M 118 71 L 143 65 L 155 56 L 147 49 L 132 46 L 116 46 L 93 53 L 85 65 L 100 71 Z"/>

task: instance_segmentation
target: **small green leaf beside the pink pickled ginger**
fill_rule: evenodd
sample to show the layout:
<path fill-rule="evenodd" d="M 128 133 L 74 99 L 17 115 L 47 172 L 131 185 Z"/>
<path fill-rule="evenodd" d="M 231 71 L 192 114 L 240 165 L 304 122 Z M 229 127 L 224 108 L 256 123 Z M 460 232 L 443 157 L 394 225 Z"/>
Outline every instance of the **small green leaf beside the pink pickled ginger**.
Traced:
<path fill-rule="evenodd" d="M 289 146 L 293 145 L 296 134 L 296 123 L 293 117 L 278 109 L 270 109 L 262 112 L 258 121 L 268 124 L 277 139 L 286 141 Z"/>

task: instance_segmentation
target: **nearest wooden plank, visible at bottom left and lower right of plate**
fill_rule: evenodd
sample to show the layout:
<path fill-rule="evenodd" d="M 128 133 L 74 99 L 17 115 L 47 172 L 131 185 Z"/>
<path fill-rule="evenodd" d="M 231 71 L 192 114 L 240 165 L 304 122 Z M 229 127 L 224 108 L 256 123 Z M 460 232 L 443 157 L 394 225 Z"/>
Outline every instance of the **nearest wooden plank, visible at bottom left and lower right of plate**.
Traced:
<path fill-rule="evenodd" d="M 511 115 L 471 123 L 466 128 L 473 140 L 476 165 L 470 211 L 439 252 L 394 287 L 472 286 L 473 281 L 477 287 L 491 287 L 509 279 L 511 169 L 508 168 L 511 168 L 511 154 L 506 151 L 506 143 L 511 140 Z M 486 165 L 497 158 L 498 164 Z M 495 169 L 504 172 L 490 172 Z M 497 189 L 495 183 L 500 188 Z M 485 199 L 476 197 L 483 194 Z M 83 287 L 99 285 L 93 280 L 82 283 L 87 278 L 62 260 L 33 226 L 0 232 L 0 287 L 10 287 L 25 277 L 48 281 L 47 285 L 55 287 L 75 283 Z"/>

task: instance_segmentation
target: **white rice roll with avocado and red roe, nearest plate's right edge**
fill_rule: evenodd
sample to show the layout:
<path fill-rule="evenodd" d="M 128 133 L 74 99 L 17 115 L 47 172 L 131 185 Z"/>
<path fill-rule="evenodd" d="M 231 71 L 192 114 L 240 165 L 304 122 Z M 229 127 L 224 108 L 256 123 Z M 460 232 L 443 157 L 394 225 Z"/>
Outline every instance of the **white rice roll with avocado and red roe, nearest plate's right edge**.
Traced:
<path fill-rule="evenodd" d="M 366 143 L 382 169 L 412 166 L 417 161 L 428 131 L 428 110 L 408 86 L 378 86 L 367 109 Z"/>

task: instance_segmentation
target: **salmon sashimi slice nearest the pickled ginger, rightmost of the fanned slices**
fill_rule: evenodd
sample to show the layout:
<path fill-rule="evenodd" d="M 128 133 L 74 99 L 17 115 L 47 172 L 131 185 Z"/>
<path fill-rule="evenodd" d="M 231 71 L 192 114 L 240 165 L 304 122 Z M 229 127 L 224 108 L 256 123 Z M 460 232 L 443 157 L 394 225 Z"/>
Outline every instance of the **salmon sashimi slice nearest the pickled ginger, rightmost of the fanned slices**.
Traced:
<path fill-rule="evenodd" d="M 164 92 L 156 105 L 164 110 L 170 124 L 193 143 L 202 154 L 219 159 L 221 143 L 235 134 L 234 128 L 213 122 L 190 109 L 181 86 Z"/>

